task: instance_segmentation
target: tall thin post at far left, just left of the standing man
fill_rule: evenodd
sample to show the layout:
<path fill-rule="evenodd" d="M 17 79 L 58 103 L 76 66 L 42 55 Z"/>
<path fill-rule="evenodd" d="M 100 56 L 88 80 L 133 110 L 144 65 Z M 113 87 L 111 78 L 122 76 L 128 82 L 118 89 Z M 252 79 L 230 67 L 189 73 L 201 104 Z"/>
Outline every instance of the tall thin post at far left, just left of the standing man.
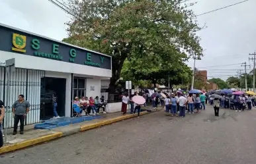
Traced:
<path fill-rule="evenodd" d="M 10 97 L 10 75 L 11 75 L 11 69 L 10 66 L 6 67 L 7 69 L 7 90 L 6 90 L 6 95 L 7 95 L 7 100 L 6 100 L 6 126 L 5 126 L 5 142 L 7 142 L 7 128 L 9 127 L 9 97 Z"/>

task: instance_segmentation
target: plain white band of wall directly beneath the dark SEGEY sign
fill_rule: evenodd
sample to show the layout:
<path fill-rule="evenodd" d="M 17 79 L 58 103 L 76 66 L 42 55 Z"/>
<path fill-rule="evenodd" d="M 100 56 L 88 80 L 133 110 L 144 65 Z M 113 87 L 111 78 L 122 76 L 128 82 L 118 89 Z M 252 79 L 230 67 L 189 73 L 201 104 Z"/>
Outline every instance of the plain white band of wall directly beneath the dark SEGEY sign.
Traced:
<path fill-rule="evenodd" d="M 89 76 L 102 76 L 108 78 L 112 76 L 112 70 L 108 69 L 90 67 L 87 65 L 77 65 L 63 61 L 44 59 L 42 57 L 33 57 L 30 55 L 0 51 L 0 62 L 5 62 L 7 59 L 12 58 L 15 58 L 15 67 L 18 68 L 87 74 Z"/>

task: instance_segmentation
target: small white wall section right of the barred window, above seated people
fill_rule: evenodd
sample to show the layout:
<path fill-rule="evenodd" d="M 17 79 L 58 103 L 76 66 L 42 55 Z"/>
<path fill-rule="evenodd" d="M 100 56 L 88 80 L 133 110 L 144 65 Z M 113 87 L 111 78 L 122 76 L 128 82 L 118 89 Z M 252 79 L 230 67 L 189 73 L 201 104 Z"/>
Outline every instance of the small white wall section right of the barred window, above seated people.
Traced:
<path fill-rule="evenodd" d="M 91 86 L 94 86 L 95 90 L 91 90 Z M 96 96 L 101 96 L 101 80 L 97 78 L 87 78 L 86 79 L 86 96 L 95 98 Z"/>

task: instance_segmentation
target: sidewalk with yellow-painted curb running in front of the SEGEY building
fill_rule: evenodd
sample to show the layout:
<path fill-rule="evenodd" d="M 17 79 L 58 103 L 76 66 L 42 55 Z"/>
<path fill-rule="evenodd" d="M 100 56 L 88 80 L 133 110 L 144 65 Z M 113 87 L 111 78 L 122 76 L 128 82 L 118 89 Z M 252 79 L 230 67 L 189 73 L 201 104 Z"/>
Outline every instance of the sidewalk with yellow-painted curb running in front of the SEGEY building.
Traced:
<path fill-rule="evenodd" d="M 150 111 L 151 107 L 142 107 L 142 109 L 147 109 L 147 111 L 142 111 L 140 115 L 146 115 Z M 159 108 L 162 109 L 162 108 Z M 67 126 L 60 126 L 57 128 L 52 128 L 51 130 L 42 130 L 42 129 L 30 129 L 25 130 L 24 134 L 17 134 L 15 136 L 8 135 L 7 143 L 0 148 L 0 154 L 7 153 L 9 151 L 15 151 L 22 148 L 26 148 L 28 146 L 33 146 L 35 144 L 40 144 L 42 142 L 47 142 L 50 140 L 54 140 L 56 138 L 60 138 L 63 136 L 69 136 L 71 134 L 75 134 L 77 132 L 82 132 L 85 130 L 90 130 L 92 128 L 97 128 L 99 126 L 112 124 L 118 121 L 122 121 L 124 119 L 130 119 L 133 117 L 137 117 L 136 114 L 126 114 L 121 115 L 118 113 L 107 113 L 101 115 L 102 118 L 94 119 L 92 121 L 84 121 L 82 123 L 69 124 Z"/>

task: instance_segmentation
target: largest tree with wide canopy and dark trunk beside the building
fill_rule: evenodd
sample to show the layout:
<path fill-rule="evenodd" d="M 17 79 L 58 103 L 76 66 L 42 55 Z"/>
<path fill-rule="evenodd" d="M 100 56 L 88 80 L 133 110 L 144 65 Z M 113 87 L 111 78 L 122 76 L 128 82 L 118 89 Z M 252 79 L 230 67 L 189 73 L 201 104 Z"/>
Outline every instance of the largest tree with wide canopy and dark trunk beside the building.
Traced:
<path fill-rule="evenodd" d="M 169 55 L 185 51 L 202 55 L 201 28 L 183 0 L 67 0 L 74 17 L 67 22 L 68 38 L 64 41 L 112 55 L 110 92 L 124 61 L 152 54 Z M 186 1 L 186 0 L 185 0 Z M 193 5 L 193 3 L 191 3 Z"/>

